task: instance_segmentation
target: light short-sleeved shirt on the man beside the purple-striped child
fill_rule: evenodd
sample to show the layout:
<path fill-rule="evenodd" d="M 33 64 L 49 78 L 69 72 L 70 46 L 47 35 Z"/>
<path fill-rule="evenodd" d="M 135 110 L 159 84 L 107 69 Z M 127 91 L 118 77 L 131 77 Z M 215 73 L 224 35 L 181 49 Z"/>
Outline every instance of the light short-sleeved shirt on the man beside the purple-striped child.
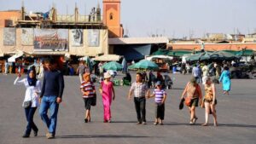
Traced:
<path fill-rule="evenodd" d="M 145 97 L 148 90 L 148 84 L 134 82 L 131 84 L 131 91 L 134 91 L 134 97 Z"/>

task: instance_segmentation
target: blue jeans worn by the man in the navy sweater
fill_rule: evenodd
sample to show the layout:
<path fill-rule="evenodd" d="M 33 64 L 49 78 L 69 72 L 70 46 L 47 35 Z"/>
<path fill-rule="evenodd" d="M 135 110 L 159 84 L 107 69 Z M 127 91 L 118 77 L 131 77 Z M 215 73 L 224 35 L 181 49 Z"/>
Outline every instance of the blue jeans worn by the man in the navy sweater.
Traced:
<path fill-rule="evenodd" d="M 41 100 L 41 105 L 39 109 L 39 114 L 47 125 L 49 133 L 55 135 L 56 125 L 57 125 L 57 115 L 59 110 L 59 104 L 56 102 L 57 96 L 48 95 L 43 96 Z M 47 115 L 49 109 L 49 117 Z"/>

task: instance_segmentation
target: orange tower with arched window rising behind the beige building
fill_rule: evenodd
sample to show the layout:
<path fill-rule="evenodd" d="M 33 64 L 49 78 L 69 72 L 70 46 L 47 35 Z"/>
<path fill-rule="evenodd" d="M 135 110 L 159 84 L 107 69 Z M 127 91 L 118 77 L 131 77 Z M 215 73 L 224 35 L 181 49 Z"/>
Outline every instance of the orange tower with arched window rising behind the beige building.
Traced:
<path fill-rule="evenodd" d="M 120 3 L 120 0 L 103 0 L 103 23 L 108 26 L 108 37 L 123 37 Z"/>

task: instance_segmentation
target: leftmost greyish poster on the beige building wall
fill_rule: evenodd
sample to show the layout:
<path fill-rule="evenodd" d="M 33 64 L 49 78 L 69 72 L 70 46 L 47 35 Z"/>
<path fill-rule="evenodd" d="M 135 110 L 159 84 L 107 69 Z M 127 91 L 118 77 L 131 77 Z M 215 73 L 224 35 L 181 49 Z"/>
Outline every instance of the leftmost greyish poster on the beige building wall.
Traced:
<path fill-rule="evenodd" d="M 4 28 L 3 29 L 3 45 L 14 46 L 16 44 L 16 29 Z"/>

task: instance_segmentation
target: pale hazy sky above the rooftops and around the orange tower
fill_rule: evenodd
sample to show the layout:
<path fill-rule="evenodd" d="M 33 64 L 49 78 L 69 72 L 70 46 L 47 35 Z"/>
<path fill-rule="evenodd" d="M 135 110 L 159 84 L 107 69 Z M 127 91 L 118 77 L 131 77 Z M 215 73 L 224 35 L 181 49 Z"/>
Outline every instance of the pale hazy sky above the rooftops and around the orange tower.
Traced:
<path fill-rule="evenodd" d="M 89 14 L 102 0 L 24 0 L 26 11 Z M 0 0 L 0 10 L 20 9 L 21 0 Z M 85 10 L 84 10 L 85 8 Z M 121 23 L 130 37 L 152 34 L 203 37 L 210 33 L 256 32 L 256 0 L 121 0 Z"/>

